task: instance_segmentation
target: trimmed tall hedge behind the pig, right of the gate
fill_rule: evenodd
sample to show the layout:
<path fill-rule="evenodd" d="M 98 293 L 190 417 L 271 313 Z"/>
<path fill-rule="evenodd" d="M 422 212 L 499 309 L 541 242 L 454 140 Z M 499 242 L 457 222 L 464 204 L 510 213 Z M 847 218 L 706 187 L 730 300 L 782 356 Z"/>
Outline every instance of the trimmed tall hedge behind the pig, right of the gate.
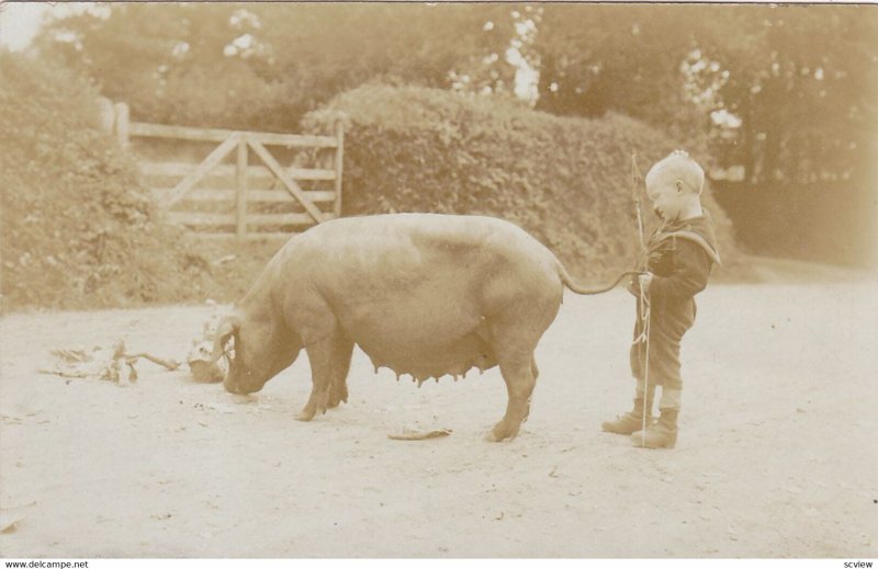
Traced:
<path fill-rule="evenodd" d="M 360 87 L 308 114 L 303 126 L 328 132 L 337 120 L 346 123 L 345 215 L 503 217 L 592 282 L 629 269 L 638 255 L 632 152 L 645 174 L 679 148 L 618 114 L 558 117 L 514 101 L 415 87 Z M 703 203 L 723 253 L 733 257 L 731 224 L 709 189 Z"/>

